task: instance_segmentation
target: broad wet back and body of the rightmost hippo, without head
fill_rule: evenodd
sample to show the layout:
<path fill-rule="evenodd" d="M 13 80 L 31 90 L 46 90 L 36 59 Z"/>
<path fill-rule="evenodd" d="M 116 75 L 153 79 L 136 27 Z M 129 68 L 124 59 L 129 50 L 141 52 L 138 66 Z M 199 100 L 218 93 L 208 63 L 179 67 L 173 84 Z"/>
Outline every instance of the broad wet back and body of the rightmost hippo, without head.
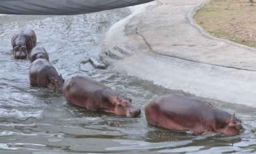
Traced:
<path fill-rule="evenodd" d="M 145 115 L 148 123 L 166 129 L 191 130 L 197 127 L 199 130 L 205 130 L 207 111 L 212 108 L 212 105 L 197 99 L 168 94 L 148 102 Z"/>

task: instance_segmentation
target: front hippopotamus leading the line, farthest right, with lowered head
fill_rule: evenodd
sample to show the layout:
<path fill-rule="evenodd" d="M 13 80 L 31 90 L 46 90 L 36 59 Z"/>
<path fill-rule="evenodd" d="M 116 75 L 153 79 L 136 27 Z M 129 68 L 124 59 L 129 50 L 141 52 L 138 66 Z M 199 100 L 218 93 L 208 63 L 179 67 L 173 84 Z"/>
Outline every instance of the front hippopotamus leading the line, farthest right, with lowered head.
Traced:
<path fill-rule="evenodd" d="M 145 106 L 148 123 L 169 130 L 188 130 L 196 134 L 239 135 L 245 131 L 241 120 L 207 102 L 177 94 L 159 96 Z"/>

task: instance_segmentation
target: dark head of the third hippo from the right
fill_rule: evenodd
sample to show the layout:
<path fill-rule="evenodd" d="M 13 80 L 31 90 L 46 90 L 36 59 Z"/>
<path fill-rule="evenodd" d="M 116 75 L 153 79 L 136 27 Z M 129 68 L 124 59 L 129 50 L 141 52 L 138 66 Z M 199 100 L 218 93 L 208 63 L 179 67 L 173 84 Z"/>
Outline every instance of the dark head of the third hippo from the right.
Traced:
<path fill-rule="evenodd" d="M 62 88 L 65 79 L 62 79 L 61 74 L 56 75 L 51 79 L 50 89 L 56 91 L 57 93 L 63 93 Z"/>

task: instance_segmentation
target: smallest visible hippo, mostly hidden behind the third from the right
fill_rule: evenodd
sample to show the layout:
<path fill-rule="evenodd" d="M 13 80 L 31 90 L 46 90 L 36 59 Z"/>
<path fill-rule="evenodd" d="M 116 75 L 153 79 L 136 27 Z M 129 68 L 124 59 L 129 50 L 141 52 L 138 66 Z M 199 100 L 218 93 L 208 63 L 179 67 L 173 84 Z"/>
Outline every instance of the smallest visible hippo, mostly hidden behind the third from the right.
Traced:
<path fill-rule="evenodd" d="M 29 60 L 32 63 L 36 59 L 46 59 L 49 61 L 49 55 L 46 52 L 46 49 L 42 46 L 36 46 L 31 50 L 31 53 L 29 54 Z"/>

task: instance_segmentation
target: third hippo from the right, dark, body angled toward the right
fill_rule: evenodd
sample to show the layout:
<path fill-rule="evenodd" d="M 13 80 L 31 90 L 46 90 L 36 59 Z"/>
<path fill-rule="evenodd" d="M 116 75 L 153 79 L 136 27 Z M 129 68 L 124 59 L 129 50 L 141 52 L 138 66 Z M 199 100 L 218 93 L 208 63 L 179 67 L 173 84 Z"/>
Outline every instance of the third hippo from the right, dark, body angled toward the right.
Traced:
<path fill-rule="evenodd" d="M 46 59 L 36 59 L 29 68 L 29 80 L 33 85 L 47 87 L 57 93 L 62 93 L 65 79 L 62 79 L 56 69 Z"/>

